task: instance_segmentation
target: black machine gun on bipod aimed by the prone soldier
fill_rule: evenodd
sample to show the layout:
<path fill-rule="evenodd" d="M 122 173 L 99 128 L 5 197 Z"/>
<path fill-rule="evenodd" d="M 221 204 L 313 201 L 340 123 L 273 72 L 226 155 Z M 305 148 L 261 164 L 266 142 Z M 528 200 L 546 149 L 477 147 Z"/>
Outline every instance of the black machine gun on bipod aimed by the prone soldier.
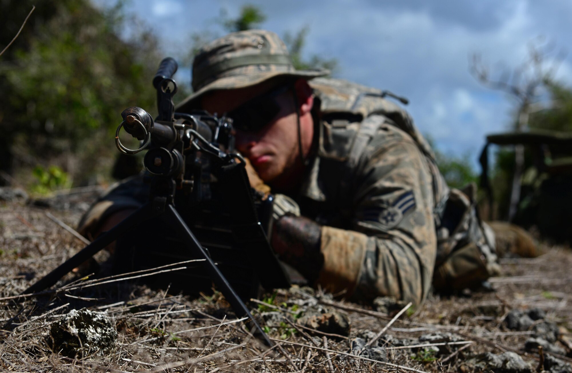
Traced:
<path fill-rule="evenodd" d="M 123 243 L 118 241 L 116 263 L 124 270 L 180 259 L 204 260 L 202 269 L 180 271 L 178 277 L 172 275 L 176 272 L 169 272 L 162 281 L 195 292 L 209 291 L 214 283 L 235 314 L 248 316 L 255 335 L 270 346 L 271 341 L 243 299 L 259 285 L 266 289 L 289 285 L 268 242 L 272 196 L 264 201 L 255 198 L 245 161 L 235 152 L 230 118 L 204 111 L 174 112 L 177 84 L 172 76 L 176 70 L 176 61 L 165 58 L 153 78 L 159 113 L 156 120 L 144 109 L 132 106 L 121 113 L 123 121 L 116 131 L 116 146 L 121 152 L 147 150 L 148 201 L 23 293 L 54 285 L 89 257 L 122 239 Z M 142 141 L 141 146 L 126 148 L 119 137 L 121 128 Z M 153 263 L 149 263 L 150 258 Z"/>

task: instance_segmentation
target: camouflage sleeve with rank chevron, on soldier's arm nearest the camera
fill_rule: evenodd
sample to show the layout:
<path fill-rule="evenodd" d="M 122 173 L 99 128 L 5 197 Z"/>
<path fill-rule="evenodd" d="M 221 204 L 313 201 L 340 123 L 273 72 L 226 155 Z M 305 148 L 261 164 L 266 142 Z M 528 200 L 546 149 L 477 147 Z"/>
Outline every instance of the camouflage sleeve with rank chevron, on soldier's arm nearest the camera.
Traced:
<path fill-rule="evenodd" d="M 432 177 L 415 144 L 397 141 L 362 159 L 353 180 L 353 229 L 321 229 L 317 283 L 359 299 L 419 304 L 431 285 L 436 236 Z"/>

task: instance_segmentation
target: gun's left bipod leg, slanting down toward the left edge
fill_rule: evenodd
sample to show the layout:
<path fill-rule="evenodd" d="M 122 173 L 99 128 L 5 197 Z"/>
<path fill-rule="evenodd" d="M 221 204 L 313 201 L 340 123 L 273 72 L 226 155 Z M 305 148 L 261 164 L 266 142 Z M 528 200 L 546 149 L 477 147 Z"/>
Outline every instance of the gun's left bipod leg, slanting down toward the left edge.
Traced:
<path fill-rule="evenodd" d="M 59 265 L 59 267 L 55 268 L 46 276 L 42 277 L 42 279 L 40 279 L 37 283 L 31 285 L 29 288 L 23 291 L 22 294 L 31 294 L 49 288 L 50 286 L 57 283 L 58 280 L 65 276 L 67 273 L 72 271 L 72 269 L 76 268 L 81 263 L 84 263 L 84 261 L 96 255 L 96 253 L 100 252 L 107 245 L 117 240 L 125 232 L 129 231 L 129 229 L 135 227 L 138 224 L 141 224 L 145 220 L 156 216 L 157 213 L 159 212 L 152 208 L 151 203 L 142 205 L 131 215 L 122 220 L 121 223 L 117 224 L 115 227 L 109 229 L 109 231 L 97 237 L 96 240 L 87 245 L 84 249 L 81 249 L 81 251 L 77 252 L 76 255 L 70 257 L 70 259 L 67 259 L 64 263 Z"/>

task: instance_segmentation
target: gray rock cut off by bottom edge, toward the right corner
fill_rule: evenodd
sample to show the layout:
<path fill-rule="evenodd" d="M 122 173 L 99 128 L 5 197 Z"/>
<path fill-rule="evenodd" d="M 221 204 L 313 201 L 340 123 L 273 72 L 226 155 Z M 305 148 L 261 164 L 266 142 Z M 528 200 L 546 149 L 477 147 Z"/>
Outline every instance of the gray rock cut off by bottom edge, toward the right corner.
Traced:
<path fill-rule="evenodd" d="M 477 355 L 468 359 L 464 366 L 469 371 L 482 372 L 492 371 L 494 373 L 531 373 L 529 364 L 522 360 L 521 356 L 514 352 L 503 352 L 495 355 L 491 352 Z"/>

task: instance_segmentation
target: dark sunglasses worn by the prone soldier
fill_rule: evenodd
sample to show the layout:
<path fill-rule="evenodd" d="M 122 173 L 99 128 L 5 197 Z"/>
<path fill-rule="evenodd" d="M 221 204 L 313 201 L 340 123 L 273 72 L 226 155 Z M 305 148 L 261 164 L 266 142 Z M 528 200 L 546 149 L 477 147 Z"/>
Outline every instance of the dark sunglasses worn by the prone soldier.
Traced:
<path fill-rule="evenodd" d="M 227 117 L 232 118 L 234 128 L 244 132 L 257 132 L 278 115 L 281 106 L 276 102 L 276 97 L 289 89 L 291 86 L 285 85 L 252 98 L 227 113 Z"/>

